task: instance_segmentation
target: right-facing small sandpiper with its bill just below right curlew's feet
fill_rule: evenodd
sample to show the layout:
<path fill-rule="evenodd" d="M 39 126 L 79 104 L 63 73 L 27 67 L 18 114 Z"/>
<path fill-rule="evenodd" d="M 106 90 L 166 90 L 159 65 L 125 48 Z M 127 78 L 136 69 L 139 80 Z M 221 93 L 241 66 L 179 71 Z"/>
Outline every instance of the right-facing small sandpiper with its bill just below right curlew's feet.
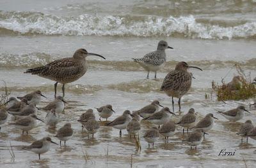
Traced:
<path fill-rule="evenodd" d="M 163 108 L 160 111 L 154 113 L 154 115 L 143 120 L 147 120 L 148 122 L 154 123 L 158 125 L 158 127 L 160 128 L 160 125 L 170 120 L 170 113 L 175 115 L 174 113 L 172 113 L 172 111 L 170 111 L 169 108 Z"/>

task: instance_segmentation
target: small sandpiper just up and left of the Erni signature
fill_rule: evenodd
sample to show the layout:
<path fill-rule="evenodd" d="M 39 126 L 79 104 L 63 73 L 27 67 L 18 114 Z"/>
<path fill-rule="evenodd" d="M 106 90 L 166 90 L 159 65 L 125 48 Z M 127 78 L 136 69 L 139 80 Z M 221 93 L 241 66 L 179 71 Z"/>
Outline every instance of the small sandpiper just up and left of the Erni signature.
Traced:
<path fill-rule="evenodd" d="M 192 149 L 192 146 L 195 146 L 195 149 L 196 149 L 196 146 L 201 144 L 202 141 L 204 140 L 204 134 L 207 134 L 207 133 L 204 132 L 204 130 L 202 129 L 198 129 L 193 132 L 190 132 L 188 134 L 188 137 L 183 141 L 186 141 L 189 144 L 190 149 Z"/>

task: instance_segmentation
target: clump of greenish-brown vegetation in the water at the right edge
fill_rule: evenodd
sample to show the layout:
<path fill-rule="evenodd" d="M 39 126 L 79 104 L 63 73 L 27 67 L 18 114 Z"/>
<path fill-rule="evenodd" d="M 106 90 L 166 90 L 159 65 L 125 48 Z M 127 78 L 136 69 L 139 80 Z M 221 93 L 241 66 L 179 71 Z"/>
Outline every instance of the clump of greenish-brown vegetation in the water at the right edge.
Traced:
<path fill-rule="evenodd" d="M 246 75 L 240 66 L 235 65 L 237 76 L 229 83 L 221 80 L 221 85 L 212 81 L 212 90 L 216 92 L 218 101 L 245 100 L 256 97 L 256 85 L 251 80 L 250 73 Z"/>

